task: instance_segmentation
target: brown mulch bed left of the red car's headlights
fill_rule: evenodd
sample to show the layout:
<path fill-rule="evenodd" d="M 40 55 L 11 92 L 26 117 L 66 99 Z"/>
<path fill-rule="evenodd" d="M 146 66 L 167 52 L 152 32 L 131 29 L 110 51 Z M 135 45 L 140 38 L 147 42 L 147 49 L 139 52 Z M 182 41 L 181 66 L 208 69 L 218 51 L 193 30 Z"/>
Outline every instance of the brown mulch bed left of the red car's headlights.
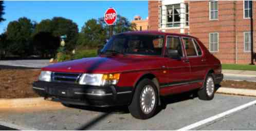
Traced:
<path fill-rule="evenodd" d="M 32 90 L 32 83 L 40 70 L 0 68 L 0 99 L 39 97 Z"/>

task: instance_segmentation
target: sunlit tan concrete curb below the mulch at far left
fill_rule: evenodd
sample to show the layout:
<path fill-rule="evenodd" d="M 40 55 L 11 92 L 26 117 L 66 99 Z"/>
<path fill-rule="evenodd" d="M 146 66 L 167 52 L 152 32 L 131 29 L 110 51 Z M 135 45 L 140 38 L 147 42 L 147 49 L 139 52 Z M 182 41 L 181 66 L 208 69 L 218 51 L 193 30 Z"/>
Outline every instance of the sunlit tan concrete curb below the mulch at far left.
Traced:
<path fill-rule="evenodd" d="M 0 99 L 1 108 L 18 108 L 34 106 L 61 106 L 59 102 L 46 101 L 44 98 Z"/>

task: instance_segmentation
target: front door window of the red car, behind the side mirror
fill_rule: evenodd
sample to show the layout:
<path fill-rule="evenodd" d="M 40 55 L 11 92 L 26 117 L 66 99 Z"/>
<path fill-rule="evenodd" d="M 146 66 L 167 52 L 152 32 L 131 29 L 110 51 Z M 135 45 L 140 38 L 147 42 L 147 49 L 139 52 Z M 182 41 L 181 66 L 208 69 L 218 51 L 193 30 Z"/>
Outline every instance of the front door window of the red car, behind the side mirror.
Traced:
<path fill-rule="evenodd" d="M 171 58 L 183 57 L 180 38 L 168 36 L 166 54 Z"/>

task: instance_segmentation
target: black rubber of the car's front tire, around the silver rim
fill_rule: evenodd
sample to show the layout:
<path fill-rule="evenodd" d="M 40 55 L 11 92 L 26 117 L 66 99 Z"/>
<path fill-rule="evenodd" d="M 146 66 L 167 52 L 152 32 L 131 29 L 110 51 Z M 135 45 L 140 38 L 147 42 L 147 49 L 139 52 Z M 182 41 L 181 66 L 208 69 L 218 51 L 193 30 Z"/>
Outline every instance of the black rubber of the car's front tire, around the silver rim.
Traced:
<path fill-rule="evenodd" d="M 141 93 L 146 85 L 150 85 L 151 87 L 153 87 L 153 90 L 155 93 L 155 105 L 154 105 L 153 109 L 151 110 L 151 112 L 148 114 L 143 113 L 141 106 L 140 106 Z M 143 120 L 149 119 L 155 115 L 155 113 L 157 111 L 157 109 L 156 109 L 157 105 L 158 105 L 158 92 L 157 92 L 156 85 L 150 79 L 141 80 L 135 88 L 132 103 L 128 107 L 131 115 L 137 119 L 143 119 Z"/>

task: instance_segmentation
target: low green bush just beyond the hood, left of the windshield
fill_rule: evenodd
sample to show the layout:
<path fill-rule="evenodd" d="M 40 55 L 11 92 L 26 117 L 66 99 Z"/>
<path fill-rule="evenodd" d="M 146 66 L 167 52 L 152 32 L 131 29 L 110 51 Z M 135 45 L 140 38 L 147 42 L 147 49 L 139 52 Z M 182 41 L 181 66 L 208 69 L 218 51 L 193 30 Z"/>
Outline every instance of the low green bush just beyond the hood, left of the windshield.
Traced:
<path fill-rule="evenodd" d="M 92 58 L 97 56 L 97 49 L 77 50 L 73 59 Z"/>

